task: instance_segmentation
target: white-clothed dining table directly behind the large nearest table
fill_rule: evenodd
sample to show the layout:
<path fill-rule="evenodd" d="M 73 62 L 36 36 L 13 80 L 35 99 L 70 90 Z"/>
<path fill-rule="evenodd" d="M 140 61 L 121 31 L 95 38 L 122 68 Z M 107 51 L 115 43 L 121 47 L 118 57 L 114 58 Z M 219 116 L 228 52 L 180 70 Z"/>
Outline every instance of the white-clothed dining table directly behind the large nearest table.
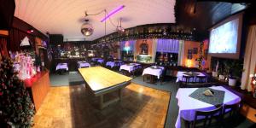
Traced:
<path fill-rule="evenodd" d="M 204 73 L 200 72 L 183 72 L 183 71 L 178 71 L 177 72 L 177 79 L 176 82 L 185 82 L 185 79 L 183 79 L 184 76 L 192 76 L 194 79 L 189 79 L 189 82 L 198 82 L 199 79 L 196 78 L 196 76 L 206 76 Z M 204 81 L 207 82 L 207 81 Z"/>

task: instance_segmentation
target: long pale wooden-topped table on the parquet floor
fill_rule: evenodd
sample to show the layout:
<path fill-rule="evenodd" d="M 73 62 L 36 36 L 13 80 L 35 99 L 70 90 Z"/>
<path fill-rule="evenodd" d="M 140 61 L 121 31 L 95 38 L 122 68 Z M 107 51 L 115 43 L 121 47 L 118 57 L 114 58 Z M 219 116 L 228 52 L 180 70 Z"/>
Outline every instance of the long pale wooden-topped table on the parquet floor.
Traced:
<path fill-rule="evenodd" d="M 104 67 L 79 68 L 84 78 L 86 90 L 92 92 L 95 96 L 100 96 L 100 108 L 105 108 L 113 102 L 118 102 L 122 98 L 122 89 L 131 84 L 131 78 L 125 75 L 115 73 Z M 119 91 L 119 97 L 104 102 L 103 96 L 113 91 Z"/>

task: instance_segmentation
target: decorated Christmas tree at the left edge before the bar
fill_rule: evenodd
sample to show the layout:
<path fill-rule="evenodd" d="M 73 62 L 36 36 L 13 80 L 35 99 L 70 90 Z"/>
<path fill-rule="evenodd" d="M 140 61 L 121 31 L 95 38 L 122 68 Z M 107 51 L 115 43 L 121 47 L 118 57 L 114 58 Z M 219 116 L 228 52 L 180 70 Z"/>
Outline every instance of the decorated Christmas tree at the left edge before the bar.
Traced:
<path fill-rule="evenodd" d="M 13 61 L 0 62 L 0 125 L 31 127 L 34 105 L 23 82 L 14 72 Z"/>

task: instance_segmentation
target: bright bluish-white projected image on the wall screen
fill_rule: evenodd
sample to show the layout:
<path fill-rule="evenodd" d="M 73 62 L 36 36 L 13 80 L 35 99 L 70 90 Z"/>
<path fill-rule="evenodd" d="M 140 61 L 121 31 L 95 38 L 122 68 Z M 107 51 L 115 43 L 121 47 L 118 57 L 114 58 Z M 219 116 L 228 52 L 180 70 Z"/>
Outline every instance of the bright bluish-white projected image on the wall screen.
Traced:
<path fill-rule="evenodd" d="M 209 53 L 236 53 L 239 20 L 231 20 L 212 29 Z"/>

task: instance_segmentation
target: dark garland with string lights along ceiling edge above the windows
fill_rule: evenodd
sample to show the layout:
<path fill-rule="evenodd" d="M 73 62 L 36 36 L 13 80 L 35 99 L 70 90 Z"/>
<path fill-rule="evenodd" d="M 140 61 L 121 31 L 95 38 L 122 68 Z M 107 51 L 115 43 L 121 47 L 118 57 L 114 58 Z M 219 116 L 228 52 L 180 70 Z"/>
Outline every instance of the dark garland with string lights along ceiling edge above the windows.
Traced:
<path fill-rule="evenodd" d="M 134 40 L 139 38 L 170 38 L 181 40 L 195 40 L 193 31 L 184 29 L 175 24 L 152 24 L 144 26 L 131 27 L 125 29 L 125 32 L 113 32 L 98 38 L 94 41 L 95 44 L 113 43 L 125 40 Z"/>

